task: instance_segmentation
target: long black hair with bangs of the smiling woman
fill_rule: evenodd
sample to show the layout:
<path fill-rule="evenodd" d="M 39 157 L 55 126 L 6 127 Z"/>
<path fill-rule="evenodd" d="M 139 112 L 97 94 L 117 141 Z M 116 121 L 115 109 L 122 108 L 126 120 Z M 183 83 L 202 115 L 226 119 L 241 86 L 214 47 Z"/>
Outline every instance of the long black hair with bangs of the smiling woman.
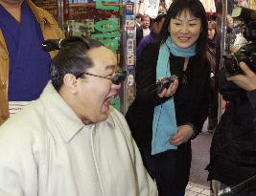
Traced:
<path fill-rule="evenodd" d="M 207 35 L 208 35 L 208 24 L 207 24 L 207 16 L 204 10 L 203 5 L 199 0 L 175 0 L 169 10 L 167 11 L 165 22 L 163 24 L 163 28 L 159 34 L 159 43 L 164 43 L 169 33 L 169 25 L 171 19 L 175 18 L 182 11 L 190 11 L 190 13 L 199 18 L 201 21 L 201 32 L 197 41 L 196 53 L 201 59 L 205 59 L 206 56 L 206 48 L 207 48 Z"/>

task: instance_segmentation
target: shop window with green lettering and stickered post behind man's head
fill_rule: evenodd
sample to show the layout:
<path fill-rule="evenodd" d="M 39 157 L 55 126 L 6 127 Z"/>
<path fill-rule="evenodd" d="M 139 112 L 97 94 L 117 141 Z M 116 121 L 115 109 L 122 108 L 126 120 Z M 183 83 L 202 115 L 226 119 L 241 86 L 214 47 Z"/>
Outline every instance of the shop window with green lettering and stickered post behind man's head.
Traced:
<path fill-rule="evenodd" d="M 117 54 L 118 67 L 127 70 L 128 76 L 134 76 L 136 49 L 133 2 L 69 0 L 64 1 L 63 8 L 63 30 L 66 36 L 77 35 L 100 40 Z M 134 85 L 125 82 L 119 97 L 112 103 L 123 113 L 134 98 Z"/>

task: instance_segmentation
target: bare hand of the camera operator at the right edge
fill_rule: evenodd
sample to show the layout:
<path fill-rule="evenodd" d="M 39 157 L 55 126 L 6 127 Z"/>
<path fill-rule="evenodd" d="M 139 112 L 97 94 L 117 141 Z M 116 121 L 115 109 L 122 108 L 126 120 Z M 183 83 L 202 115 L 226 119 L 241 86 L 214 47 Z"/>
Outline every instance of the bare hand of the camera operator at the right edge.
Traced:
<path fill-rule="evenodd" d="M 229 76 L 226 79 L 229 81 L 233 81 L 239 87 L 243 88 L 245 91 L 255 90 L 256 74 L 253 73 L 244 62 L 240 63 L 240 67 L 244 71 L 245 75 Z"/>

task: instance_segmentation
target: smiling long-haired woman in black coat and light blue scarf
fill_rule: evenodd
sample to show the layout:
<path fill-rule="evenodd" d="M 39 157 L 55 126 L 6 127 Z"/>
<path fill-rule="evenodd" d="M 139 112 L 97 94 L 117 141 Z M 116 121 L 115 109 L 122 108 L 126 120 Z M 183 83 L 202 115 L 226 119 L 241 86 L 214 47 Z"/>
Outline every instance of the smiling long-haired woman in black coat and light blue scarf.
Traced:
<path fill-rule="evenodd" d="M 183 196 L 189 181 L 191 140 L 208 116 L 210 65 L 207 17 L 199 0 L 175 0 L 159 42 L 149 44 L 136 66 L 136 97 L 126 119 L 160 196 Z M 160 93 L 155 83 L 178 79 Z"/>

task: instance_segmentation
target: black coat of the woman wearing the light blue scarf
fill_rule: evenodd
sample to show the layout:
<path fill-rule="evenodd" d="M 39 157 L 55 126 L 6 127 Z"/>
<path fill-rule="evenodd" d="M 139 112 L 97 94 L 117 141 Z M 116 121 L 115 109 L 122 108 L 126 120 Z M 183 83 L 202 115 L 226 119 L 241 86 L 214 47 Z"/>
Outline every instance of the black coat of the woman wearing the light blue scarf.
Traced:
<path fill-rule="evenodd" d="M 156 62 L 159 47 L 156 44 L 148 45 L 142 52 L 136 67 L 136 98 L 128 108 L 126 118 L 132 136 L 139 148 L 151 151 L 152 119 L 154 107 L 163 103 L 168 98 L 158 98 L 150 86 L 156 81 Z M 198 135 L 208 111 L 208 89 L 210 66 L 199 66 L 198 57 L 190 59 L 187 71 L 182 72 L 183 57 L 171 54 L 171 73 L 179 76 L 179 85 L 175 92 L 175 112 L 177 125 L 187 122 L 195 124 Z M 204 64 L 204 63 L 201 63 Z M 174 65 L 174 66 L 173 66 Z M 183 77 L 187 83 L 182 84 Z M 197 76 L 195 78 L 195 76 Z M 191 165 L 191 142 L 178 146 L 177 156 L 177 186 L 184 188 L 189 180 Z"/>

